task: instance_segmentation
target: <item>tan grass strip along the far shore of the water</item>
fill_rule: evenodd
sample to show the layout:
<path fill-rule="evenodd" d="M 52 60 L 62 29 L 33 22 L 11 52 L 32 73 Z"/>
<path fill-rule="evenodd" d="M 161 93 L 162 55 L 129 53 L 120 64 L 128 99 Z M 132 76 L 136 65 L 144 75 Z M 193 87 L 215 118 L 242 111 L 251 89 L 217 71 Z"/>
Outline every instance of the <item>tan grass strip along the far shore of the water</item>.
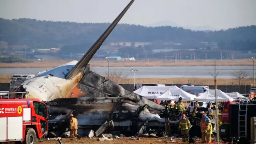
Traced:
<path fill-rule="evenodd" d="M 32 63 L 0 63 L 0 68 L 54 68 L 71 60 L 35 61 Z M 106 60 L 90 61 L 91 67 L 107 67 Z M 252 66 L 251 59 L 216 60 L 217 66 Z M 111 67 L 131 66 L 214 66 L 214 60 L 138 60 L 138 61 L 111 61 Z"/>

